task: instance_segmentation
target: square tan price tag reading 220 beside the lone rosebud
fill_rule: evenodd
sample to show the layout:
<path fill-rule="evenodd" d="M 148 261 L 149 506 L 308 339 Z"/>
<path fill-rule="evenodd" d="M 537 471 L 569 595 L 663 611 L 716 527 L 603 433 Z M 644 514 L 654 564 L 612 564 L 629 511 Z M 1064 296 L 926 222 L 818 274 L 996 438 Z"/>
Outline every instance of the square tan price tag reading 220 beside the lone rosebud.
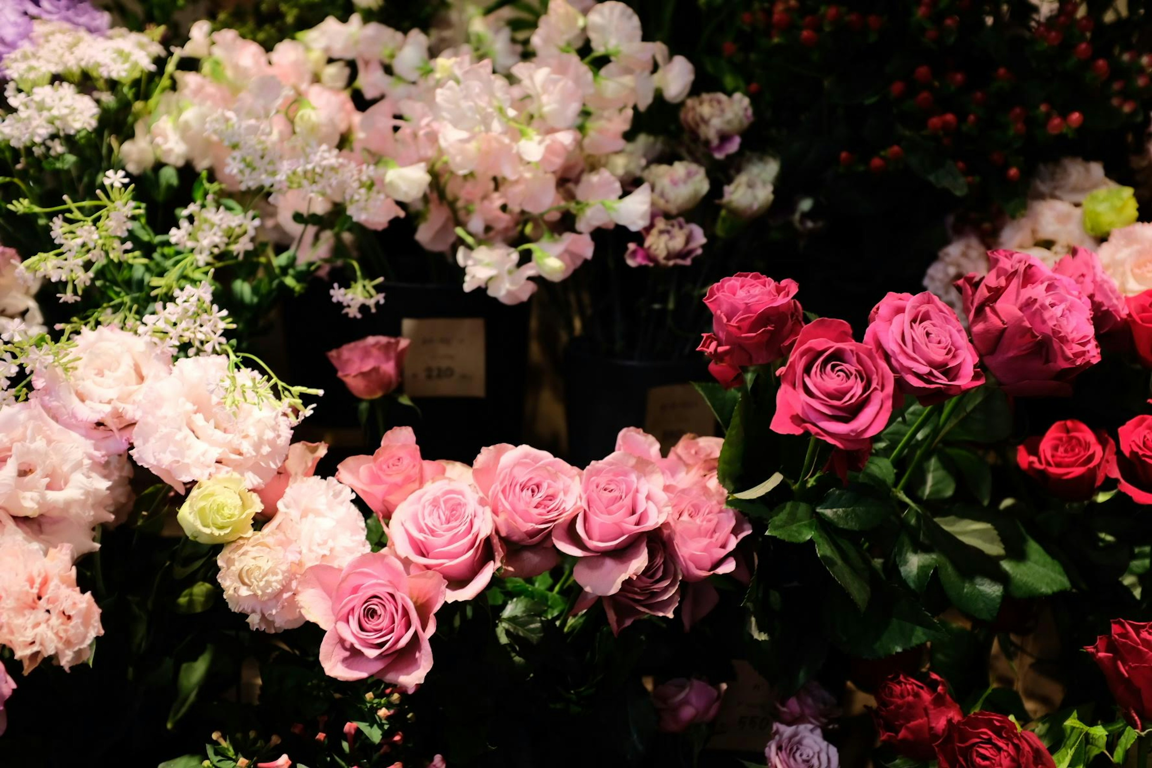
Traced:
<path fill-rule="evenodd" d="M 484 318 L 404 318 L 410 397 L 484 397 Z"/>

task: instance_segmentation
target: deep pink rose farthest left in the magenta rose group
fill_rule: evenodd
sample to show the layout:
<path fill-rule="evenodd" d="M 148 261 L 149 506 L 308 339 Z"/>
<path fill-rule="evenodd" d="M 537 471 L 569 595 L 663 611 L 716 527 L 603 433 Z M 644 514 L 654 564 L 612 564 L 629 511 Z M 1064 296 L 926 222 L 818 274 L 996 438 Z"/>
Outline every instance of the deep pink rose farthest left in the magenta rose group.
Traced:
<path fill-rule="evenodd" d="M 704 296 L 712 311 L 712 333 L 704 334 L 700 351 L 729 368 L 779 359 L 804 325 L 795 280 L 776 282 L 757 272 L 713 283 Z"/>

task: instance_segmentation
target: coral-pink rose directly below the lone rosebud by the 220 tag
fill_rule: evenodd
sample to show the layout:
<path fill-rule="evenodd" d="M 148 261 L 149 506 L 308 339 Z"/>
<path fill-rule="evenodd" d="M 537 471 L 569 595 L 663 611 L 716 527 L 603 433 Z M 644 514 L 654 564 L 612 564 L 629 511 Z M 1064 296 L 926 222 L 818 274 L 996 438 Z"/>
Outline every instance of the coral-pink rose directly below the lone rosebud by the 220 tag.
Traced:
<path fill-rule="evenodd" d="M 445 472 L 440 462 L 420 458 L 411 427 L 393 427 L 371 456 L 349 456 L 336 467 L 336 479 L 356 492 L 381 520 L 422 485 Z"/>

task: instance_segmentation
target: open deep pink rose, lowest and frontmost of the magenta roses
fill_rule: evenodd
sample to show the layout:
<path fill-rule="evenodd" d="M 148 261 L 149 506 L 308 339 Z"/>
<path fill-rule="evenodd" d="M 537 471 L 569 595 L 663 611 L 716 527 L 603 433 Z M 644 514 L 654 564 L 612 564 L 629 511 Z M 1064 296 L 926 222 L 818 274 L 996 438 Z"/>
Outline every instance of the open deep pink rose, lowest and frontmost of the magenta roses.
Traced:
<path fill-rule="evenodd" d="M 892 370 L 876 349 L 852 341 L 843 320 L 820 318 L 804 326 L 780 368 L 772 431 L 806 432 L 861 450 L 888 424 L 895 391 Z"/>

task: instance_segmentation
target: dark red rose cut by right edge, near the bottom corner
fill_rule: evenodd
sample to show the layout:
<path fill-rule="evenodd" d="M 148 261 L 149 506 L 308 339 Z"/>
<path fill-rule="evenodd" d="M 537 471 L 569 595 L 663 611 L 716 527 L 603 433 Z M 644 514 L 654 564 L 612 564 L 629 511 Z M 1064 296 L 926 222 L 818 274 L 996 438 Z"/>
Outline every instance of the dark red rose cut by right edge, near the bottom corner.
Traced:
<path fill-rule="evenodd" d="M 1101 634 L 1084 649 L 1104 672 L 1124 720 L 1144 730 L 1152 713 L 1152 624 L 1114 618 L 1112 634 Z"/>

